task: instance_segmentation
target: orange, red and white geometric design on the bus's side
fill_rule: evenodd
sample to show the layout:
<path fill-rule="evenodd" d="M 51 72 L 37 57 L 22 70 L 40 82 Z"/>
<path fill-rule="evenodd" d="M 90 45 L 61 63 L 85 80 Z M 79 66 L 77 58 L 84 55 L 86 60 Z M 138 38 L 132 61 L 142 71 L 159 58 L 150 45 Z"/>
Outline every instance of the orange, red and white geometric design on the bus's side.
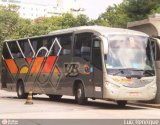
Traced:
<path fill-rule="evenodd" d="M 33 45 L 31 44 L 30 39 L 28 39 L 26 42 L 28 42 L 28 47 L 32 52 L 32 55 L 30 57 L 26 56 L 23 53 L 22 50 L 24 49 L 21 48 L 18 41 L 15 41 L 15 44 L 20 50 L 20 54 L 17 53 L 17 55 L 22 55 L 20 59 L 23 59 L 23 63 L 25 64 L 20 63 L 19 58 L 15 58 L 15 55 L 13 55 L 13 53 L 11 52 L 8 42 L 5 42 L 6 48 L 11 58 L 5 59 L 4 55 L 2 55 L 2 59 L 4 60 L 6 68 L 9 70 L 14 81 L 16 81 L 16 79 L 20 75 L 25 75 L 26 81 L 30 77 L 33 78 L 34 75 L 33 81 L 36 82 L 35 80 L 37 80 L 39 85 L 44 85 L 42 84 L 43 81 L 50 81 L 50 84 L 54 84 L 52 86 L 57 86 L 57 82 L 60 81 L 59 76 L 61 76 L 61 71 L 56 62 L 62 49 L 62 46 L 60 45 L 58 39 L 55 38 L 54 40 L 52 40 L 52 44 L 49 49 L 43 46 L 39 48 L 37 52 L 35 52 L 35 50 L 33 49 Z M 53 52 L 55 47 L 57 47 L 56 52 Z M 40 55 L 41 53 L 43 53 L 43 55 Z M 54 55 L 52 53 L 54 53 Z M 46 76 L 45 79 L 43 77 L 44 75 Z M 43 78 L 43 80 L 41 77 Z M 54 79 L 51 77 L 54 77 Z"/>

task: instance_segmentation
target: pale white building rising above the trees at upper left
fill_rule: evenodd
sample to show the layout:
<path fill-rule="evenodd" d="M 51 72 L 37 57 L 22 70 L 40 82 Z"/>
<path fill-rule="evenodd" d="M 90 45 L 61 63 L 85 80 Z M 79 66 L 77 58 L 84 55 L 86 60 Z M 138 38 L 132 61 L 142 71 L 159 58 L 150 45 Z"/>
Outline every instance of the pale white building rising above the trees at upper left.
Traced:
<path fill-rule="evenodd" d="M 0 5 L 9 4 L 20 7 L 19 15 L 22 18 L 35 19 L 38 17 L 59 16 L 62 13 L 73 13 L 74 15 L 82 14 L 84 9 L 80 8 L 77 0 L 55 0 L 54 5 L 45 5 L 37 3 L 25 3 L 22 0 L 0 0 Z"/>

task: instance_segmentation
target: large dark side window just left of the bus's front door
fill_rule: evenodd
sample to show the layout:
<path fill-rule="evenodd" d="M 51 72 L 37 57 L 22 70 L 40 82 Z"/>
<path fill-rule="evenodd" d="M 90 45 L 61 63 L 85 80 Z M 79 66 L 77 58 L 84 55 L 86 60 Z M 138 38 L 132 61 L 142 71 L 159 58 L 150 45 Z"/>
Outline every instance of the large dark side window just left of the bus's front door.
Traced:
<path fill-rule="evenodd" d="M 74 55 L 90 61 L 92 33 L 81 33 L 75 37 Z"/>

